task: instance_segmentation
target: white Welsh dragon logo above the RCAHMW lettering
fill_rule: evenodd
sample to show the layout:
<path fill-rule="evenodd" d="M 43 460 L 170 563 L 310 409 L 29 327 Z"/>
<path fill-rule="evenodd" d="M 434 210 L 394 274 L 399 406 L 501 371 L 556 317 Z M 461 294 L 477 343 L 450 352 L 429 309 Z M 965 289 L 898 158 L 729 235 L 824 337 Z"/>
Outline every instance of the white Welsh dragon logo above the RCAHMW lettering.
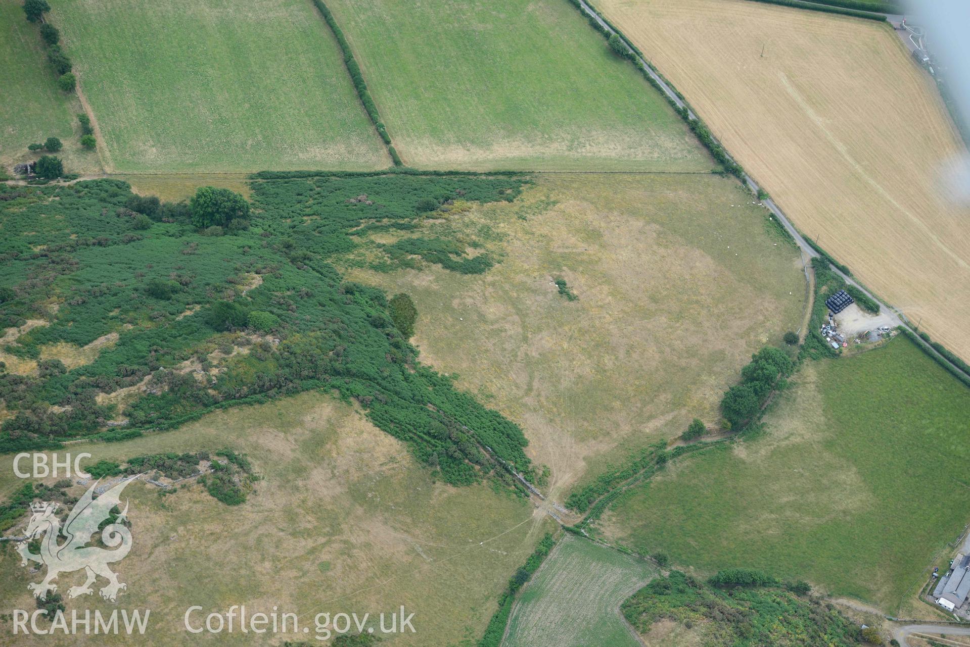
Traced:
<path fill-rule="evenodd" d="M 37 584 L 31 582 L 27 585 L 27 588 L 34 592 L 35 598 L 47 600 L 48 592 L 57 591 L 57 585 L 52 584 L 51 580 L 56 579 L 62 572 L 81 569 L 85 570 L 87 580 L 81 586 L 72 586 L 68 589 L 69 598 L 91 595 L 93 593 L 91 584 L 94 584 L 96 575 L 108 579 L 108 586 L 100 591 L 101 597 L 105 600 L 114 601 L 118 591 L 128 588 L 127 585 L 119 582 L 117 574 L 108 568 L 109 564 L 124 559 L 131 550 L 131 531 L 120 523 L 126 519 L 128 513 L 127 501 L 115 522 L 108 524 L 101 531 L 101 540 L 106 546 L 114 547 L 121 544 L 121 547 L 106 550 L 87 544 L 91 542 L 91 535 L 98 531 L 101 522 L 109 518 L 111 509 L 121 503 L 121 490 L 134 478 L 122 480 L 97 499 L 94 498 L 93 492 L 100 479 L 95 481 L 87 492 L 84 492 L 81 501 L 71 510 L 71 514 L 64 523 L 63 531 L 60 528 L 60 521 L 54 516 L 57 504 L 31 504 L 30 509 L 34 514 L 27 525 L 26 539 L 35 539 L 44 535 L 44 539 L 41 540 L 41 552 L 39 555 L 30 552 L 26 541 L 17 544 L 17 552 L 23 558 L 20 566 L 27 566 L 27 562 L 31 561 L 48 567 L 48 575 L 43 581 Z M 67 538 L 64 543 L 57 542 L 61 534 Z"/>

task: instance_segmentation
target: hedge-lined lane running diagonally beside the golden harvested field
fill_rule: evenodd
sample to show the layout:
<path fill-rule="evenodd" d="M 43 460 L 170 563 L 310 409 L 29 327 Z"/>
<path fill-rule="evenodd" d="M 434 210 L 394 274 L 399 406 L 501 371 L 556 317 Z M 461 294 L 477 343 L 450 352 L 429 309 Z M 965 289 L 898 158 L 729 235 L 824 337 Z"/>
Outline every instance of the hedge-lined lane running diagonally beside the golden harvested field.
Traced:
<path fill-rule="evenodd" d="M 629 49 L 630 53 L 633 56 L 634 64 L 639 63 L 640 66 L 642 66 L 644 74 L 646 74 L 651 79 L 651 84 L 653 84 L 655 87 L 657 87 L 663 92 L 664 96 L 667 99 L 667 102 L 670 103 L 676 109 L 678 114 L 684 117 L 684 119 L 688 122 L 688 124 L 697 123 L 697 124 L 703 125 L 703 122 L 697 116 L 694 109 L 691 108 L 690 104 L 688 104 L 684 96 L 673 86 L 672 83 L 670 83 L 670 81 L 668 81 L 666 78 L 663 77 L 663 75 L 661 75 L 661 73 L 657 70 L 657 68 L 655 68 L 654 65 L 647 60 L 643 52 L 641 52 L 636 46 L 634 46 L 630 41 L 630 39 L 628 39 L 623 34 L 623 32 L 620 31 L 618 27 L 613 25 L 604 15 L 601 15 L 599 11 L 592 4 L 590 4 L 590 0 L 568 0 L 568 2 L 570 2 L 573 6 L 579 9 L 579 11 L 582 12 L 584 15 L 586 15 L 590 20 L 591 26 L 597 29 L 600 33 L 603 33 L 607 37 L 615 34 L 621 41 L 623 41 L 624 46 L 626 46 Z M 704 129 L 706 130 L 706 125 L 704 125 Z M 715 138 L 713 134 L 710 135 L 710 137 L 711 139 L 714 140 L 717 147 L 721 151 L 723 151 L 723 154 L 727 156 L 727 159 L 730 161 L 730 163 L 733 164 L 737 169 L 739 169 L 739 173 L 734 173 L 732 171 L 732 174 L 735 174 L 738 177 L 738 179 L 740 179 L 741 182 L 752 191 L 752 193 L 757 195 L 759 192 L 763 192 L 763 189 L 761 188 L 760 184 L 750 174 L 748 174 L 747 171 L 742 169 L 741 166 L 737 164 L 737 162 L 730 155 L 730 153 L 727 152 L 727 149 L 721 144 L 720 140 Z M 701 139 L 701 141 L 703 142 L 703 139 Z M 806 254 L 808 254 L 809 259 L 818 258 L 818 257 L 827 258 L 827 259 L 833 258 L 827 252 L 823 251 L 820 253 L 819 250 L 822 249 L 821 247 L 817 247 L 813 243 L 809 243 L 806 240 L 806 237 L 802 235 L 801 231 L 798 231 L 794 227 L 794 225 L 792 225 L 792 221 L 789 220 L 788 216 L 785 215 L 785 212 L 782 211 L 781 207 L 779 207 L 775 203 L 775 201 L 770 198 L 770 196 L 766 196 L 760 201 L 768 208 L 769 211 L 771 211 L 772 214 L 775 215 L 775 217 L 778 218 L 778 220 L 784 226 L 785 230 L 788 231 L 789 234 L 792 236 L 792 239 L 794 240 L 795 244 L 797 244 L 798 247 L 800 247 Z M 845 269 L 848 270 L 848 267 L 846 267 L 845 265 L 842 265 L 842 267 L 845 267 Z M 934 361 L 936 361 L 941 366 L 946 368 L 961 383 L 970 387 L 970 371 L 965 370 L 964 368 L 962 368 L 962 366 L 958 365 L 954 361 L 951 361 L 946 356 L 946 354 L 953 355 L 954 357 L 959 359 L 961 363 L 964 363 L 964 360 L 960 358 L 959 355 L 956 355 L 949 349 L 946 349 L 945 347 L 942 347 L 942 345 L 939 345 L 941 348 L 944 348 L 944 351 L 946 353 L 946 354 L 941 354 L 936 350 L 936 348 L 934 348 L 934 344 L 936 343 L 931 344 L 930 342 L 927 342 L 925 339 L 923 339 L 920 333 L 916 332 L 913 329 L 912 324 L 909 321 L 909 318 L 907 318 L 906 315 L 904 315 L 898 308 L 895 308 L 894 306 L 889 305 L 879 297 L 875 296 L 865 286 L 863 286 L 855 278 L 853 278 L 850 272 L 843 271 L 840 267 L 837 267 L 837 266 L 833 266 L 832 271 L 838 274 L 839 276 L 841 276 L 842 279 L 845 280 L 845 282 L 848 285 L 857 287 L 859 291 L 861 291 L 866 296 L 871 298 L 873 301 L 878 303 L 880 307 L 886 308 L 886 310 L 888 310 L 889 313 L 892 314 L 892 317 L 895 320 L 894 324 L 898 325 L 903 330 L 903 332 L 907 334 L 907 336 L 910 336 L 911 339 L 917 342 L 917 346 L 921 348 L 921 350 L 925 354 L 928 354 Z M 807 280 L 808 280 L 808 277 L 806 276 L 806 281 Z"/>

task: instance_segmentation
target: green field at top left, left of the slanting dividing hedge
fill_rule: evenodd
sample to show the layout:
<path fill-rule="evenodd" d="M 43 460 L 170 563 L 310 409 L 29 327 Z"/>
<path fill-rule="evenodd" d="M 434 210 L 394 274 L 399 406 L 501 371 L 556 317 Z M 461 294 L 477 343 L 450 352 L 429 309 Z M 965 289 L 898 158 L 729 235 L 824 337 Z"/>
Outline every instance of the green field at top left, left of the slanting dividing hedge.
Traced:
<path fill-rule="evenodd" d="M 390 165 L 305 0 L 65 0 L 51 12 L 116 171 Z"/>

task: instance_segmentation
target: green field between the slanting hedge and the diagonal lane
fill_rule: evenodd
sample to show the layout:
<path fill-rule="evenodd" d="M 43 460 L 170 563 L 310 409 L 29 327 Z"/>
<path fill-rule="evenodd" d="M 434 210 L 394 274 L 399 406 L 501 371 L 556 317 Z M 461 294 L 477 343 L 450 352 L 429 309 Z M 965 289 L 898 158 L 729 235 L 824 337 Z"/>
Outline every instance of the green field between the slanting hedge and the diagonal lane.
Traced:
<path fill-rule="evenodd" d="M 566 0 L 328 6 L 409 166 L 715 166 L 661 95 Z"/>

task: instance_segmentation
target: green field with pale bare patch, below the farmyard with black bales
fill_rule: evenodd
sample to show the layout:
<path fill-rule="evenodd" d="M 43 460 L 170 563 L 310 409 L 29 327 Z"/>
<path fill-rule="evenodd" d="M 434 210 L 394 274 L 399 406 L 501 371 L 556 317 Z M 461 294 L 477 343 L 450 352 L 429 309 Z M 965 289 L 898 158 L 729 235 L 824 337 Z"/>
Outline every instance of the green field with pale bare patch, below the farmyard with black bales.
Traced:
<path fill-rule="evenodd" d="M 970 389 L 904 337 L 796 381 L 760 437 L 679 461 L 603 528 L 701 573 L 757 568 L 893 613 L 967 522 Z"/>

